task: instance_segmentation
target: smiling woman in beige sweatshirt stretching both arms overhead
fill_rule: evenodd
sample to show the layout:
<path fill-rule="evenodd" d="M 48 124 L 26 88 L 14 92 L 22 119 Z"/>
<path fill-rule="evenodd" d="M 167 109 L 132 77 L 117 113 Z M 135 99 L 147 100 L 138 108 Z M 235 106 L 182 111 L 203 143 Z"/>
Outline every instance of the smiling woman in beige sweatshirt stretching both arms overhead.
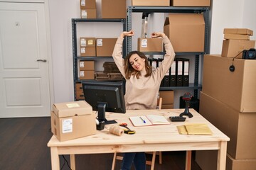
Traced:
<path fill-rule="evenodd" d="M 124 31 L 114 46 L 113 58 L 123 77 L 126 79 L 124 96 L 127 110 L 155 109 L 161 80 L 174 62 L 175 52 L 169 38 L 164 33 L 152 33 L 151 38 L 163 38 L 166 55 L 158 68 L 153 68 L 144 53 L 129 52 L 122 58 L 122 45 L 125 36 L 134 35 L 133 31 Z M 137 170 L 146 169 L 144 152 L 124 153 L 122 169 L 131 169 L 132 163 Z"/>

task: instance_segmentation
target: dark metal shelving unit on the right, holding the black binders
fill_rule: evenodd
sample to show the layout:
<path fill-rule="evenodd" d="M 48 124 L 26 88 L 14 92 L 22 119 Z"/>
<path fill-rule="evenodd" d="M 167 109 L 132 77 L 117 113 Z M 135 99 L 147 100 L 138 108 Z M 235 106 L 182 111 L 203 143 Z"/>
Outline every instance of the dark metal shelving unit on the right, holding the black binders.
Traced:
<path fill-rule="evenodd" d="M 202 89 L 198 84 L 199 57 L 209 53 L 209 8 L 208 7 L 174 7 L 174 6 L 128 6 L 127 8 L 127 30 L 132 29 L 132 13 L 203 13 L 205 19 L 205 46 L 204 52 L 176 52 L 176 55 L 195 55 L 195 79 L 189 86 L 169 86 L 160 87 L 160 91 L 193 89 L 194 97 L 198 98 L 198 89 Z M 127 54 L 132 51 L 132 38 L 126 38 Z M 164 55 L 164 52 L 145 52 L 146 55 Z"/>

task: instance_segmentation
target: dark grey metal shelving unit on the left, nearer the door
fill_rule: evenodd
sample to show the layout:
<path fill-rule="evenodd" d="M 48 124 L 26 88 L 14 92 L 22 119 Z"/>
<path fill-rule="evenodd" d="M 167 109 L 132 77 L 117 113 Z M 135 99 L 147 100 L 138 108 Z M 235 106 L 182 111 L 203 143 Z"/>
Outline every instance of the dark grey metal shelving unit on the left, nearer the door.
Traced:
<path fill-rule="evenodd" d="M 75 84 L 82 82 L 78 79 L 78 60 L 104 60 L 112 57 L 80 57 L 78 56 L 78 44 L 77 44 L 77 23 L 90 23 L 90 22 L 101 22 L 101 23 L 122 23 L 123 30 L 126 30 L 126 19 L 85 19 L 85 18 L 72 18 L 72 42 L 73 42 L 73 84 L 74 84 L 74 98 L 76 100 L 76 89 Z M 126 55 L 126 44 L 124 42 L 124 55 Z"/>

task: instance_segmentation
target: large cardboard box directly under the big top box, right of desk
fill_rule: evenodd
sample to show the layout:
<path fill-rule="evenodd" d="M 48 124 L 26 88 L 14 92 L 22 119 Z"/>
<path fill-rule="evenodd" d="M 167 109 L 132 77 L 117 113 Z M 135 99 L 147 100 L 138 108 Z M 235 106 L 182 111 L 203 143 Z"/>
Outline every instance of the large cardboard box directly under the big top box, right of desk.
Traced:
<path fill-rule="evenodd" d="M 231 95 L 230 98 L 234 96 Z M 203 92 L 200 94 L 200 102 L 200 114 L 230 137 L 228 154 L 234 159 L 256 159 L 256 111 L 254 113 L 235 111 Z"/>

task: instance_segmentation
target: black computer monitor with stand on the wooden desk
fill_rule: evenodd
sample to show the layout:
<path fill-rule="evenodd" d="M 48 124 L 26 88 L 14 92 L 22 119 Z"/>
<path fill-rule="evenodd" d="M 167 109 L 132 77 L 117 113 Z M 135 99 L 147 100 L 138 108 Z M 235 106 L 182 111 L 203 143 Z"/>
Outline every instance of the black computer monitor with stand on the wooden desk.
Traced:
<path fill-rule="evenodd" d="M 117 123 L 107 120 L 105 111 L 126 113 L 122 81 L 82 81 L 82 90 L 85 101 L 92 106 L 93 111 L 97 111 L 99 121 L 105 121 L 105 124 Z"/>

